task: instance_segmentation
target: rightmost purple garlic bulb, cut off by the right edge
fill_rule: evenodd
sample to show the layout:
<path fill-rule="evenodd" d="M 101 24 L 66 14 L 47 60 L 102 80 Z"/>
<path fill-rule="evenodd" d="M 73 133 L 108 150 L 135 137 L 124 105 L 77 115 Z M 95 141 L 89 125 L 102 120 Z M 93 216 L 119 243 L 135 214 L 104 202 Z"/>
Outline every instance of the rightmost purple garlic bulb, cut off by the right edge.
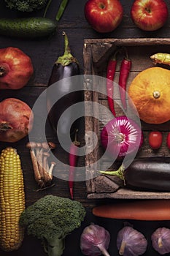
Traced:
<path fill-rule="evenodd" d="M 152 233 L 152 246 L 160 255 L 170 252 L 170 229 L 159 227 Z"/>

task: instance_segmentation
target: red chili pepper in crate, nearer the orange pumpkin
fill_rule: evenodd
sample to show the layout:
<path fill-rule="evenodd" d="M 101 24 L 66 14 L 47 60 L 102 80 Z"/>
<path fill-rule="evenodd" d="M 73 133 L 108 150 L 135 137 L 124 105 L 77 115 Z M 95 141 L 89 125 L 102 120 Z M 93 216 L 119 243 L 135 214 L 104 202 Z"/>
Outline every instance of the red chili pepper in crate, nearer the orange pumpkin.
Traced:
<path fill-rule="evenodd" d="M 120 64 L 120 76 L 119 76 L 119 86 L 120 86 L 120 99 L 123 104 L 123 108 L 127 109 L 126 104 L 126 86 L 127 86 L 127 80 L 128 75 L 131 70 L 131 59 L 128 58 L 128 52 L 125 49 L 125 58 Z"/>

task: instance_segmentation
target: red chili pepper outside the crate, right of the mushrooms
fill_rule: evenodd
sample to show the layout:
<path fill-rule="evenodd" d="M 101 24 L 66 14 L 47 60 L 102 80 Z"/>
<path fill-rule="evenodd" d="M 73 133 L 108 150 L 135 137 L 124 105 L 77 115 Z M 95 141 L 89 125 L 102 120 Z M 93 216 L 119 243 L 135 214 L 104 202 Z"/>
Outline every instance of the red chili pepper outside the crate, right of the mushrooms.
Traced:
<path fill-rule="evenodd" d="M 77 152 L 78 152 L 78 147 L 80 146 L 80 142 L 77 141 L 77 131 L 75 133 L 75 138 L 74 142 L 70 146 L 70 151 L 69 151 L 69 192 L 72 197 L 72 200 L 74 199 L 74 171 L 75 171 L 75 166 L 77 165 Z"/>

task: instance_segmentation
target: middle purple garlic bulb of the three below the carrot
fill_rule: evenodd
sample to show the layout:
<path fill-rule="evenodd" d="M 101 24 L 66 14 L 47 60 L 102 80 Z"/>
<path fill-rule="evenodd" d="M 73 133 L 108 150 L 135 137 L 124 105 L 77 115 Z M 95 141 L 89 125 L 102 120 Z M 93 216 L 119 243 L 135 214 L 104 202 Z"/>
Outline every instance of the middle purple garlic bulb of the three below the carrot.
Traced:
<path fill-rule="evenodd" d="M 133 227 L 123 227 L 117 233 L 117 249 L 119 249 L 119 255 L 123 256 L 142 255 L 147 249 L 147 240 Z"/>

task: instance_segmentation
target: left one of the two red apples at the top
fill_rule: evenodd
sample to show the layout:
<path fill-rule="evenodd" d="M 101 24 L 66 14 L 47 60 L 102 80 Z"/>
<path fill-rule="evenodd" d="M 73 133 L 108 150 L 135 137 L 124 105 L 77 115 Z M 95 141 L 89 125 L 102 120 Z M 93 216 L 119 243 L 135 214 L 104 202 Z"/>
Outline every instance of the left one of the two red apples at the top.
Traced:
<path fill-rule="evenodd" d="M 119 0 L 88 0 L 85 18 L 92 28 L 100 33 L 111 32 L 123 19 L 123 7 Z"/>

